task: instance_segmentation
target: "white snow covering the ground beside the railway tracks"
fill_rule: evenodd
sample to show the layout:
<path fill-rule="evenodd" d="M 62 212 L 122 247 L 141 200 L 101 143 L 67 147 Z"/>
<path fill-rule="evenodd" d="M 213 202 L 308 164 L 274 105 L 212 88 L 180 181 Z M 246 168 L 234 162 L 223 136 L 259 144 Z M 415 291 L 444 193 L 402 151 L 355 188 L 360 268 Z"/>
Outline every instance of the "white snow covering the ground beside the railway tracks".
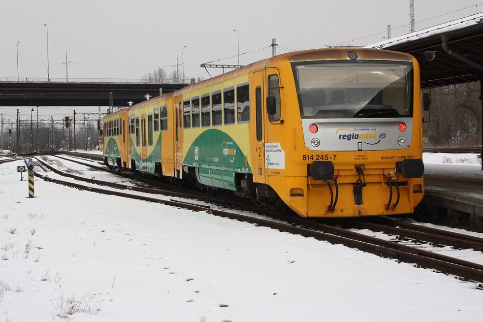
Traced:
<path fill-rule="evenodd" d="M 425 154 L 425 162 L 445 160 L 435 155 Z M 64 171 L 107 179 L 62 162 Z M 0 321 L 482 319 L 483 291 L 474 283 L 205 212 L 38 178 L 30 199 L 16 172 L 22 164 L 0 164 Z"/>

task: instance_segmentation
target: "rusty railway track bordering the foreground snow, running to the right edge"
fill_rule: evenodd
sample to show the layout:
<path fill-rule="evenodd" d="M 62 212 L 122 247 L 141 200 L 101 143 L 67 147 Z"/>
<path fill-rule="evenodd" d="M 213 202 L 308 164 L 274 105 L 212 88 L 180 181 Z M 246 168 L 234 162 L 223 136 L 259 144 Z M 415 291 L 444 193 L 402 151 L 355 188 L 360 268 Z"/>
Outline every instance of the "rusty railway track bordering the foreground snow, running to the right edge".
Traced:
<path fill-rule="evenodd" d="M 46 166 L 44 164 L 45 162 L 42 161 L 40 163 Z M 56 172 L 60 174 L 62 171 L 57 170 Z M 394 258 L 398 261 L 413 263 L 420 267 L 435 269 L 437 271 L 440 271 L 446 274 L 455 275 L 463 280 L 482 283 L 479 285 L 479 288 L 483 288 L 483 265 L 470 262 L 470 261 L 465 261 L 458 258 L 444 256 L 434 252 L 428 252 L 426 250 L 422 250 L 415 247 L 410 247 L 407 245 L 403 245 L 394 240 L 383 240 L 383 239 L 367 236 L 365 234 L 361 234 L 356 231 L 337 227 L 334 225 L 328 225 L 328 224 L 320 223 L 318 221 L 311 221 L 300 217 L 294 217 L 291 215 L 276 214 L 276 213 L 261 210 L 261 209 L 259 209 L 258 214 L 270 216 L 271 218 L 259 218 L 260 216 L 254 217 L 253 215 L 250 216 L 250 215 L 235 213 L 233 211 L 220 210 L 220 209 L 216 209 L 217 207 L 202 205 L 200 203 L 196 203 L 196 201 L 193 201 L 193 200 L 183 201 L 183 200 L 175 200 L 175 199 L 161 199 L 153 196 L 138 195 L 133 193 L 120 192 L 116 190 L 107 190 L 107 189 L 98 188 L 98 187 L 86 186 L 76 182 L 68 182 L 64 180 L 49 178 L 42 174 L 36 174 L 36 175 L 43 177 L 44 180 L 46 181 L 72 187 L 79 190 L 116 195 L 116 196 L 127 197 L 127 198 L 132 198 L 137 200 L 148 201 L 148 202 L 162 203 L 162 204 L 166 204 L 174 207 L 189 209 L 192 211 L 206 211 L 213 215 L 230 218 L 233 220 L 244 221 L 255 225 L 262 225 L 262 226 L 270 227 L 280 231 L 286 231 L 293 234 L 302 235 L 305 237 L 312 237 L 318 240 L 328 241 L 334 244 L 342 244 L 347 247 L 373 253 L 378 256 L 382 256 L 386 258 Z M 160 191 L 160 190 L 141 188 L 141 187 L 130 187 L 130 186 L 121 185 L 121 184 L 113 184 L 108 182 L 106 183 L 100 180 L 82 178 L 79 176 L 74 176 L 72 174 L 66 174 L 66 175 L 71 178 L 75 177 L 74 179 L 76 180 L 82 180 L 96 185 L 102 184 L 104 186 L 109 186 L 111 188 L 116 188 L 116 189 L 123 189 L 128 191 L 129 190 L 139 191 L 144 193 L 168 194 L 168 195 L 177 196 L 177 197 L 193 198 L 198 200 L 204 199 L 205 201 L 208 201 L 207 199 L 205 199 L 205 197 L 200 197 L 199 195 L 194 195 L 194 194 L 173 193 L 171 191 Z M 211 198 L 211 200 L 209 201 L 214 202 L 213 199 L 214 198 Z M 473 248 L 475 250 L 481 250 L 483 248 L 483 240 L 481 239 L 476 239 L 476 238 L 472 238 L 471 236 L 465 236 L 465 235 L 461 236 L 460 234 L 455 234 L 451 232 L 442 232 L 434 228 L 429 228 L 429 230 L 437 230 L 437 231 L 428 232 L 429 230 L 426 229 L 426 227 L 422 228 L 421 226 L 417 226 L 417 227 L 411 227 L 411 229 L 409 229 L 408 226 L 403 225 L 401 223 L 397 224 L 398 225 L 397 227 L 394 225 L 391 226 L 391 225 L 381 225 L 381 224 L 374 224 L 374 223 L 361 223 L 360 227 L 363 227 L 363 225 L 365 225 L 365 227 L 370 226 L 372 229 L 376 229 L 376 230 L 380 229 L 390 234 L 396 234 L 399 236 L 404 236 L 406 238 L 412 238 L 415 240 L 424 240 L 424 241 L 429 240 L 429 242 L 431 243 L 437 243 L 441 245 L 451 245 L 457 248 Z M 410 224 L 407 224 L 407 225 L 410 225 Z M 401 226 L 404 226 L 404 227 L 401 227 Z M 421 230 L 425 230 L 425 231 L 421 231 Z M 437 238 L 437 239 L 430 239 L 430 238 Z"/>

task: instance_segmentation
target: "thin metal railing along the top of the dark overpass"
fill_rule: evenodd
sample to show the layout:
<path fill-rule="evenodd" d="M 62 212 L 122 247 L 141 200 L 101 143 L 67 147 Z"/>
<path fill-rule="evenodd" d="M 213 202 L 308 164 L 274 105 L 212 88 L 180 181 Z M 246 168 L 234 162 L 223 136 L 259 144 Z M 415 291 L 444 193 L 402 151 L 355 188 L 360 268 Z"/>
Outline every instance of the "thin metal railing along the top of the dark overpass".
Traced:
<path fill-rule="evenodd" d="M 146 80 L 141 78 L 38 78 L 38 77 L 0 77 L 0 82 L 8 83 L 126 83 L 126 84 L 190 84 L 192 79 L 181 79 L 174 81 L 173 79 L 166 79 L 162 82 Z"/>

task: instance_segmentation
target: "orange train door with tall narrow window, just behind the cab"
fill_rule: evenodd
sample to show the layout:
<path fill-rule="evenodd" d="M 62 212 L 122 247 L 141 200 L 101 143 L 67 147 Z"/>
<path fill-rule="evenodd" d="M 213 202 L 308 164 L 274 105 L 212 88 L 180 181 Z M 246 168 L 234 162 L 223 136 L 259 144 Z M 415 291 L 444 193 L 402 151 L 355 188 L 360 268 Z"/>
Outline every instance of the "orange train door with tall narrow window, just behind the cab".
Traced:
<path fill-rule="evenodd" d="M 265 110 L 263 99 L 263 93 L 265 93 L 265 91 L 263 79 L 263 70 L 254 72 L 253 81 L 250 86 L 250 100 L 255 102 L 255 108 L 251 108 L 255 114 L 255 117 L 252 117 L 252 120 L 255 120 L 255 122 L 252 122 L 252 133 L 255 133 L 252 138 L 252 142 L 254 142 L 253 146 L 255 146 L 255 155 L 252 153 L 252 160 L 255 160 L 254 166 L 252 166 L 252 171 L 253 181 L 257 183 L 265 183 L 265 113 L 263 112 Z"/>

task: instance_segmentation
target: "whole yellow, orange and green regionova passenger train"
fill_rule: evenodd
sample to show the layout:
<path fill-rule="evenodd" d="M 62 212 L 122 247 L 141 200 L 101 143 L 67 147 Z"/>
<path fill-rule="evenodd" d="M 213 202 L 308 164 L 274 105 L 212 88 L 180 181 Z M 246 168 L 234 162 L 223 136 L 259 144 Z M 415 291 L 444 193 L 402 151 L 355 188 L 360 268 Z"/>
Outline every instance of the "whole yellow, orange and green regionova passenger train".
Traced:
<path fill-rule="evenodd" d="M 419 82 L 403 53 L 275 56 L 107 115 L 104 162 L 302 217 L 412 213 L 424 193 Z"/>

